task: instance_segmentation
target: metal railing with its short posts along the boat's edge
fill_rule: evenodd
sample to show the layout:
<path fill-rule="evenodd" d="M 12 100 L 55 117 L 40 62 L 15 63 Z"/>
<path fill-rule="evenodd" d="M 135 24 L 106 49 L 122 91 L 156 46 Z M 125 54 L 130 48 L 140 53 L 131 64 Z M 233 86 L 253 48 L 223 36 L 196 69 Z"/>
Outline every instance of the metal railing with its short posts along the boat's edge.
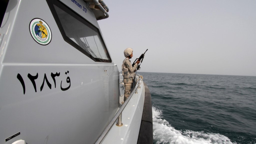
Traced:
<path fill-rule="evenodd" d="M 139 82 L 138 84 L 136 84 L 136 86 L 134 87 L 134 89 L 132 90 L 130 96 L 125 100 L 124 104 L 121 106 L 121 108 L 118 110 L 118 112 L 115 114 L 115 116 L 113 117 L 113 119 L 109 122 L 108 126 L 105 128 L 105 130 L 101 133 L 100 137 L 98 138 L 98 140 L 95 142 L 95 144 L 100 144 L 102 142 L 102 140 L 104 139 L 104 137 L 108 134 L 109 130 L 111 129 L 111 127 L 114 125 L 115 121 L 118 119 L 118 122 L 116 123 L 117 126 L 122 126 L 122 112 L 124 110 L 124 108 L 126 107 L 126 105 L 128 104 L 128 102 L 130 101 L 131 97 L 133 96 L 133 94 L 137 94 L 137 89 L 138 86 L 141 83 L 141 78 L 139 77 Z"/>

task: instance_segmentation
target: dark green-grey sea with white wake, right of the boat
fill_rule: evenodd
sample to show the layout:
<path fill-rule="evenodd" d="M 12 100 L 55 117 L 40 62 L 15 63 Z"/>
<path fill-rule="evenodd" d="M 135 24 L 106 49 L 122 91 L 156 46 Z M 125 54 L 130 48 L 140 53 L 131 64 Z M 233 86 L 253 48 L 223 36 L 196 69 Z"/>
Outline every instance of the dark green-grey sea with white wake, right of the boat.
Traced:
<path fill-rule="evenodd" d="M 142 73 L 155 144 L 256 144 L 256 77 Z"/>

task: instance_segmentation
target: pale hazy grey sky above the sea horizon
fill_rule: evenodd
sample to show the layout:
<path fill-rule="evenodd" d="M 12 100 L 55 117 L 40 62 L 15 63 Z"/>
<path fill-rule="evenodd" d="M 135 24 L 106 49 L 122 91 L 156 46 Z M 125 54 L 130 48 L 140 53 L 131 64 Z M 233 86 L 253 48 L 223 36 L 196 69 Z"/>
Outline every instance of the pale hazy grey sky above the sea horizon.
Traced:
<path fill-rule="evenodd" d="M 256 76 L 255 0 L 104 0 L 114 64 L 148 49 L 141 72 Z"/>

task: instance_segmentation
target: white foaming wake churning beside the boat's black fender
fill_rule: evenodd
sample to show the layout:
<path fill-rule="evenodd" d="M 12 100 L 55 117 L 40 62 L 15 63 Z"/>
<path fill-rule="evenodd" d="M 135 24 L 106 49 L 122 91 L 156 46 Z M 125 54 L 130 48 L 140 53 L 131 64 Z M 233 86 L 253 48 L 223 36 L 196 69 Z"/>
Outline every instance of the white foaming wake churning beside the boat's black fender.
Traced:
<path fill-rule="evenodd" d="M 159 108 L 152 107 L 152 116 L 154 144 L 233 144 L 228 137 L 219 133 L 176 130 L 162 119 L 162 110 Z"/>

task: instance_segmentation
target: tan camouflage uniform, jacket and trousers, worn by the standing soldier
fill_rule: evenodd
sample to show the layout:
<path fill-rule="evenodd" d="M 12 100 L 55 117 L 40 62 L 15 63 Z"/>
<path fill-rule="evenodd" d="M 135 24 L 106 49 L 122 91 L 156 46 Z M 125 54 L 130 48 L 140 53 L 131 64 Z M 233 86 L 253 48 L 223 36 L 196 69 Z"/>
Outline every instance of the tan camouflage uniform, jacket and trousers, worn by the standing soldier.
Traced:
<path fill-rule="evenodd" d="M 131 94 L 131 87 L 133 78 L 135 75 L 135 70 L 138 67 L 138 64 L 136 63 L 134 66 L 131 65 L 131 61 L 128 57 L 126 57 L 123 61 L 122 65 L 122 74 L 124 77 L 124 101 L 130 96 Z"/>

